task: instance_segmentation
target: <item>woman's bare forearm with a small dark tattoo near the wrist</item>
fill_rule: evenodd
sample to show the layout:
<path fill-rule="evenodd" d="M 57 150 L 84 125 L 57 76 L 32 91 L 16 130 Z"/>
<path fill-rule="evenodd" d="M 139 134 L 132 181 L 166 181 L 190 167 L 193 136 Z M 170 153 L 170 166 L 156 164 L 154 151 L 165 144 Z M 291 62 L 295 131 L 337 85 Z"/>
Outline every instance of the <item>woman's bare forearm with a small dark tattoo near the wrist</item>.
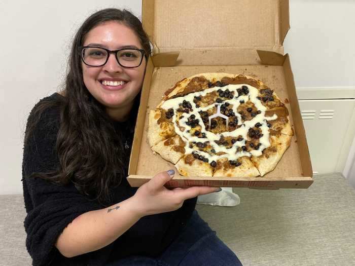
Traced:
<path fill-rule="evenodd" d="M 55 246 L 63 256 L 74 257 L 111 244 L 143 217 L 133 206 L 129 198 L 105 209 L 83 213 L 68 224 Z"/>

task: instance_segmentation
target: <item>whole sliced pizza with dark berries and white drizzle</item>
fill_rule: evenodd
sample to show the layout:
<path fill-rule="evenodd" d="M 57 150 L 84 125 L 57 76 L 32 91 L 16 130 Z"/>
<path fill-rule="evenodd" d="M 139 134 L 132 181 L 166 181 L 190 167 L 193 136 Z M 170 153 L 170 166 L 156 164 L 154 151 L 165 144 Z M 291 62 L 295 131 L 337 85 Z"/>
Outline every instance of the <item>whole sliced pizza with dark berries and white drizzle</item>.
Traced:
<path fill-rule="evenodd" d="M 185 78 L 149 113 L 153 153 L 183 176 L 264 176 L 292 136 L 285 104 L 263 82 L 242 74 Z"/>

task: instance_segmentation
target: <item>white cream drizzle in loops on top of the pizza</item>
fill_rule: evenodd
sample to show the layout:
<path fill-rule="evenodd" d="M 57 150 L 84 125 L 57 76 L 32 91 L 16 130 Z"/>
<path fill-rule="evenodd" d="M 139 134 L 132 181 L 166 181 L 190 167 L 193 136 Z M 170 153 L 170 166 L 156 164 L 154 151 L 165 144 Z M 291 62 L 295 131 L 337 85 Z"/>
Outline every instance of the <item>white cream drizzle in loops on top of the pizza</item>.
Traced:
<path fill-rule="evenodd" d="M 241 88 L 242 86 L 246 86 L 249 90 L 249 93 L 247 95 L 241 95 L 239 97 L 236 97 L 236 95 L 238 95 L 237 89 Z M 218 89 L 221 89 L 222 91 L 225 91 L 226 89 L 228 89 L 229 91 L 234 92 L 233 99 L 224 100 L 222 103 L 224 104 L 224 103 L 228 102 L 229 104 L 233 105 L 232 110 L 235 113 L 235 116 L 238 118 L 238 125 L 244 124 L 244 126 L 241 126 L 240 128 L 237 128 L 231 132 L 226 131 L 226 132 L 218 133 L 218 134 L 214 134 L 214 133 L 206 130 L 204 123 L 202 122 L 202 118 L 199 114 L 199 111 L 206 111 L 210 108 L 213 108 L 215 106 L 215 103 L 212 103 L 212 104 L 205 106 L 205 107 L 196 107 L 195 103 L 193 102 L 193 99 L 195 96 L 196 97 L 198 97 L 198 96 L 203 97 L 207 93 L 217 91 Z M 229 160 L 234 161 L 242 156 L 247 156 L 247 157 L 260 156 L 260 155 L 262 155 L 262 150 L 264 148 L 267 148 L 270 146 L 270 141 L 269 141 L 269 134 L 270 133 L 269 133 L 269 128 L 267 126 L 267 121 L 277 119 L 277 115 L 274 113 L 274 115 L 272 117 L 265 117 L 266 107 L 261 103 L 261 101 L 259 99 L 257 99 L 258 92 L 259 91 L 257 88 L 247 85 L 247 84 L 238 84 L 238 85 L 229 84 L 224 87 L 217 87 L 217 89 L 216 89 L 216 87 L 212 87 L 212 88 L 208 88 L 203 91 L 200 91 L 200 92 L 194 92 L 194 93 L 190 93 L 185 96 L 169 99 L 161 105 L 161 108 L 163 108 L 165 110 L 172 108 L 174 110 L 174 115 L 172 116 L 172 123 L 174 124 L 175 132 L 177 133 L 177 135 L 179 135 L 183 140 L 186 140 L 185 154 L 191 154 L 192 151 L 196 151 L 196 153 L 198 153 L 199 155 L 202 155 L 203 157 L 207 158 L 208 162 L 211 162 L 211 161 L 217 162 L 218 159 L 225 158 L 225 157 L 227 157 Z M 176 123 L 176 110 L 180 107 L 179 103 L 182 103 L 183 100 L 189 101 L 191 103 L 193 111 L 190 111 L 189 113 L 183 113 L 181 115 L 181 116 L 183 116 L 183 118 L 179 120 L 179 126 L 185 128 L 185 130 L 182 132 Z M 258 114 L 257 116 L 255 116 L 252 120 L 244 121 L 244 123 L 242 123 L 241 122 L 241 115 L 237 112 L 237 108 L 240 105 L 240 102 L 239 102 L 240 100 L 244 100 L 244 102 L 247 102 L 248 100 L 250 100 L 252 103 L 254 103 L 255 107 L 261 111 L 261 113 Z M 201 133 L 206 134 L 205 138 L 191 136 L 191 133 L 189 133 L 191 127 L 189 125 L 187 125 L 186 122 L 188 121 L 188 118 L 191 115 L 195 115 L 195 119 L 199 120 L 199 125 L 201 126 Z M 258 150 L 253 149 L 249 152 L 248 151 L 237 152 L 238 147 L 245 145 L 245 140 L 247 139 L 248 130 L 250 128 L 254 127 L 254 125 L 258 122 L 261 124 L 261 127 L 259 127 L 259 128 L 261 129 L 261 131 L 262 131 L 261 133 L 263 134 L 263 136 L 261 138 L 259 138 L 259 142 L 261 143 L 261 146 L 259 147 L 259 149 Z M 235 138 L 237 138 L 239 135 L 241 135 L 243 137 L 243 140 L 236 141 L 231 148 L 226 148 L 225 146 L 220 146 L 215 142 L 216 140 L 220 140 L 221 135 L 223 135 L 224 137 L 231 136 L 231 137 L 235 137 Z M 224 155 L 210 155 L 210 154 L 206 153 L 205 151 L 200 151 L 200 150 L 196 150 L 196 149 L 189 147 L 189 142 L 205 142 L 205 141 L 209 141 L 209 144 L 212 146 L 212 149 L 216 150 L 216 153 L 219 153 L 220 151 L 222 151 L 223 153 L 226 153 L 226 154 L 224 154 Z"/>

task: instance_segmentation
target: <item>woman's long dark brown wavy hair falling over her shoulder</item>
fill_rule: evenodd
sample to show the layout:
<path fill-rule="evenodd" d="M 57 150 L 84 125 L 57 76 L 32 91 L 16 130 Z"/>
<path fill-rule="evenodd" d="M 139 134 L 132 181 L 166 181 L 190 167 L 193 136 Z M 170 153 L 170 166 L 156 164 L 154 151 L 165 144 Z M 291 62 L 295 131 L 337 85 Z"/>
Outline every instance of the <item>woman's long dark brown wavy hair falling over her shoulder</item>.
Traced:
<path fill-rule="evenodd" d="M 81 55 L 86 34 L 95 26 L 107 21 L 118 21 L 131 28 L 138 36 L 146 52 L 151 54 L 149 38 L 141 22 L 127 10 L 103 9 L 88 17 L 75 35 L 67 65 L 64 97 L 56 101 L 42 100 L 33 110 L 33 118 L 27 122 L 25 143 L 31 137 L 44 110 L 60 106 L 60 127 L 57 134 L 56 150 L 60 165 L 46 173 L 33 173 L 55 184 L 73 182 L 78 190 L 91 199 L 107 202 L 110 189 L 121 183 L 126 175 L 128 160 L 124 156 L 124 144 L 114 124 L 100 104 L 87 90 L 83 81 Z M 131 117 L 135 121 L 137 101 L 135 99 Z M 133 114 L 133 115 L 132 115 Z M 134 125 L 133 125 L 134 126 Z"/>

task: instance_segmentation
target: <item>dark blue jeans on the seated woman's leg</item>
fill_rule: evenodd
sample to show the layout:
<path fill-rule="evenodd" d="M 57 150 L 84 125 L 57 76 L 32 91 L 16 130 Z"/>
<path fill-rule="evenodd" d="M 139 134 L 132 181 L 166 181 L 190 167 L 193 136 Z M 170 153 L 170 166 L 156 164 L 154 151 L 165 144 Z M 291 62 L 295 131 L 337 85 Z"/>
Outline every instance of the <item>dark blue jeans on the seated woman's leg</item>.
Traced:
<path fill-rule="evenodd" d="M 157 258 L 130 256 L 109 266 L 240 266 L 237 256 L 195 210 L 183 232 Z"/>

